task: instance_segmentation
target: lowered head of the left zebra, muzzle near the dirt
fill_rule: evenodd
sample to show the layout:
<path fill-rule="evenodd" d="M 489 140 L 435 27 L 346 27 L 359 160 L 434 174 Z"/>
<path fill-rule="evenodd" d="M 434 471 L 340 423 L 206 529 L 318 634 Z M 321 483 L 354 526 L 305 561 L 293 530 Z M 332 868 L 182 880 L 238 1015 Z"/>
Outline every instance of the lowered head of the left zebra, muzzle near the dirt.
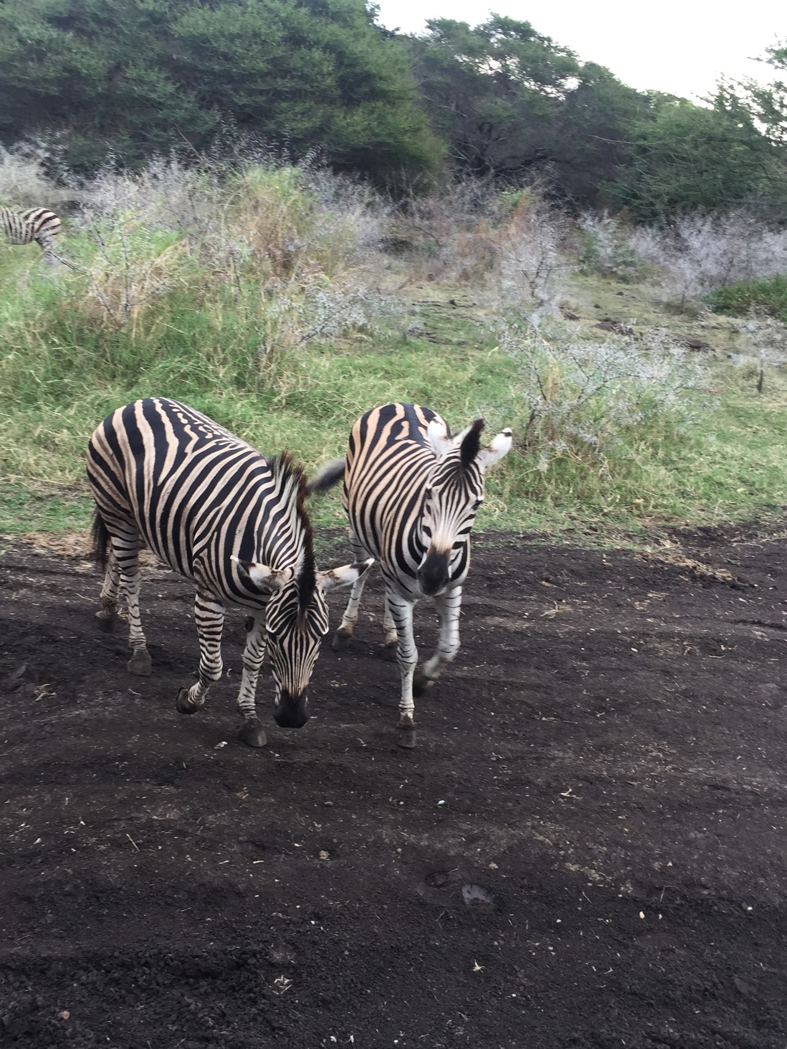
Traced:
<path fill-rule="evenodd" d="M 282 728 L 302 728 L 310 718 L 306 689 L 328 629 L 325 594 L 338 586 L 352 586 L 374 563 L 369 558 L 317 572 L 311 550 L 299 570 L 237 561 L 255 587 L 271 595 L 265 631 L 276 686 L 273 716 Z"/>

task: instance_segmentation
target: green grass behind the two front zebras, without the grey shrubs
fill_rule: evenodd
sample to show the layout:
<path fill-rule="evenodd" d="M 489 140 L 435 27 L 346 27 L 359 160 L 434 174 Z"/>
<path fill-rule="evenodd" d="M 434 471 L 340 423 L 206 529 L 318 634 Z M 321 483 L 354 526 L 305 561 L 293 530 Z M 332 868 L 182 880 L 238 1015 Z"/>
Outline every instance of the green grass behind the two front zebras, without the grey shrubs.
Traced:
<path fill-rule="evenodd" d="M 23 264 L 30 294 L 45 306 L 35 249 L 16 252 L 26 254 L 0 257 L 0 278 L 3 269 L 9 274 L 13 267 L 18 280 Z M 256 390 L 242 388 L 236 378 L 246 366 L 243 355 L 253 361 L 247 336 L 233 331 L 230 360 L 222 342 L 226 321 L 216 328 L 187 305 L 170 311 L 155 333 L 143 333 L 136 342 L 122 336 L 101 351 L 78 324 L 65 321 L 55 330 L 42 323 L 40 338 L 26 336 L 24 351 L 19 339 L 9 338 L 0 345 L 4 382 L 16 383 L 15 399 L 6 400 L 0 414 L 0 533 L 84 527 L 90 511 L 82 466 L 87 438 L 104 414 L 136 397 L 184 400 L 260 450 L 290 448 L 310 467 L 340 454 L 358 414 L 388 400 L 427 404 L 453 427 L 483 412 L 491 425 L 518 423 L 522 429 L 525 406 L 511 393 L 514 365 L 496 347 L 490 318 L 470 304 L 466 292 L 426 284 L 411 296 L 407 315 L 387 333 L 301 348 L 276 390 L 263 383 Z M 450 305 L 453 297 L 459 306 Z M 611 316 L 639 328 L 698 331 L 696 321 L 665 313 L 641 288 L 598 278 L 577 278 L 568 302 L 580 316 L 577 328 Z M 9 335 L 15 308 L 6 302 Z M 418 338 L 404 335 L 412 314 L 425 327 Z M 706 322 L 701 334 L 720 350 L 733 345 L 735 333 L 723 318 Z M 20 354 L 21 363 L 10 360 Z M 478 527 L 637 532 L 662 521 L 717 522 L 779 512 L 785 497 L 787 381 L 770 371 L 760 395 L 753 378 L 722 352 L 708 363 L 708 388 L 696 400 L 690 427 L 619 446 L 609 477 L 570 458 L 543 474 L 534 453 L 512 453 L 490 476 Z M 317 523 L 343 520 L 336 493 L 313 509 Z"/>

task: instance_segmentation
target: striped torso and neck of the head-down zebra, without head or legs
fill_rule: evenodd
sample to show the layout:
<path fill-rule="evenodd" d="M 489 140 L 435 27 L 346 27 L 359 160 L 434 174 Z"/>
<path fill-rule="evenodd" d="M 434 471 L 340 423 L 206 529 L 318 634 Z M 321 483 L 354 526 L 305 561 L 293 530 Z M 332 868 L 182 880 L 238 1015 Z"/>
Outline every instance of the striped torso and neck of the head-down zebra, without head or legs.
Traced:
<path fill-rule="evenodd" d="M 242 562 L 292 570 L 297 604 L 315 587 L 304 478 L 212 420 L 165 398 L 119 408 L 88 445 L 88 476 L 110 533 L 132 518 L 147 545 L 217 596 L 259 607 L 267 595 Z"/>

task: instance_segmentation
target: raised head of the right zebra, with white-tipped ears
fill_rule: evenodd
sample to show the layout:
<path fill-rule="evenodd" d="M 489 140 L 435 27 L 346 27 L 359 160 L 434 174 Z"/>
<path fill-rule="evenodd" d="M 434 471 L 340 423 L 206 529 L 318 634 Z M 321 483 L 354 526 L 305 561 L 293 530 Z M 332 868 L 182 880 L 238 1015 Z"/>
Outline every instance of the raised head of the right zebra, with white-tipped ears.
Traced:
<path fill-rule="evenodd" d="M 427 428 L 426 436 L 438 462 L 426 479 L 421 516 L 426 551 L 417 576 L 426 597 L 440 594 L 450 582 L 451 554 L 467 541 L 484 501 L 484 475 L 511 448 L 509 429 L 483 448 L 483 419 L 476 419 L 453 437 L 437 419 Z"/>

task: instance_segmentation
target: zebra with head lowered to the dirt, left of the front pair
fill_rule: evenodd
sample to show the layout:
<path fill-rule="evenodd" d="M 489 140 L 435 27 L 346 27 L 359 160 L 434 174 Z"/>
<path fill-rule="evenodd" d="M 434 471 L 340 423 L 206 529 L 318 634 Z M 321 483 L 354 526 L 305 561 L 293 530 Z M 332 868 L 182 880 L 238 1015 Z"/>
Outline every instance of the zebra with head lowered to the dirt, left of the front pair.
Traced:
<path fill-rule="evenodd" d="M 175 706 L 193 713 L 221 677 L 225 605 L 251 613 L 238 711 L 240 738 L 262 747 L 257 676 L 268 645 L 276 685 L 274 718 L 286 728 L 309 721 L 306 687 L 327 633 L 324 592 L 355 583 L 366 560 L 318 572 L 303 508 L 305 478 L 286 453 L 267 459 L 176 401 L 134 401 L 90 437 L 87 474 L 97 504 L 97 559 L 106 566 L 97 619 L 111 631 L 121 583 L 126 594 L 132 673 L 151 671 L 140 620 L 143 545 L 196 585 L 199 675 Z M 108 556 L 107 556 L 107 548 Z"/>

